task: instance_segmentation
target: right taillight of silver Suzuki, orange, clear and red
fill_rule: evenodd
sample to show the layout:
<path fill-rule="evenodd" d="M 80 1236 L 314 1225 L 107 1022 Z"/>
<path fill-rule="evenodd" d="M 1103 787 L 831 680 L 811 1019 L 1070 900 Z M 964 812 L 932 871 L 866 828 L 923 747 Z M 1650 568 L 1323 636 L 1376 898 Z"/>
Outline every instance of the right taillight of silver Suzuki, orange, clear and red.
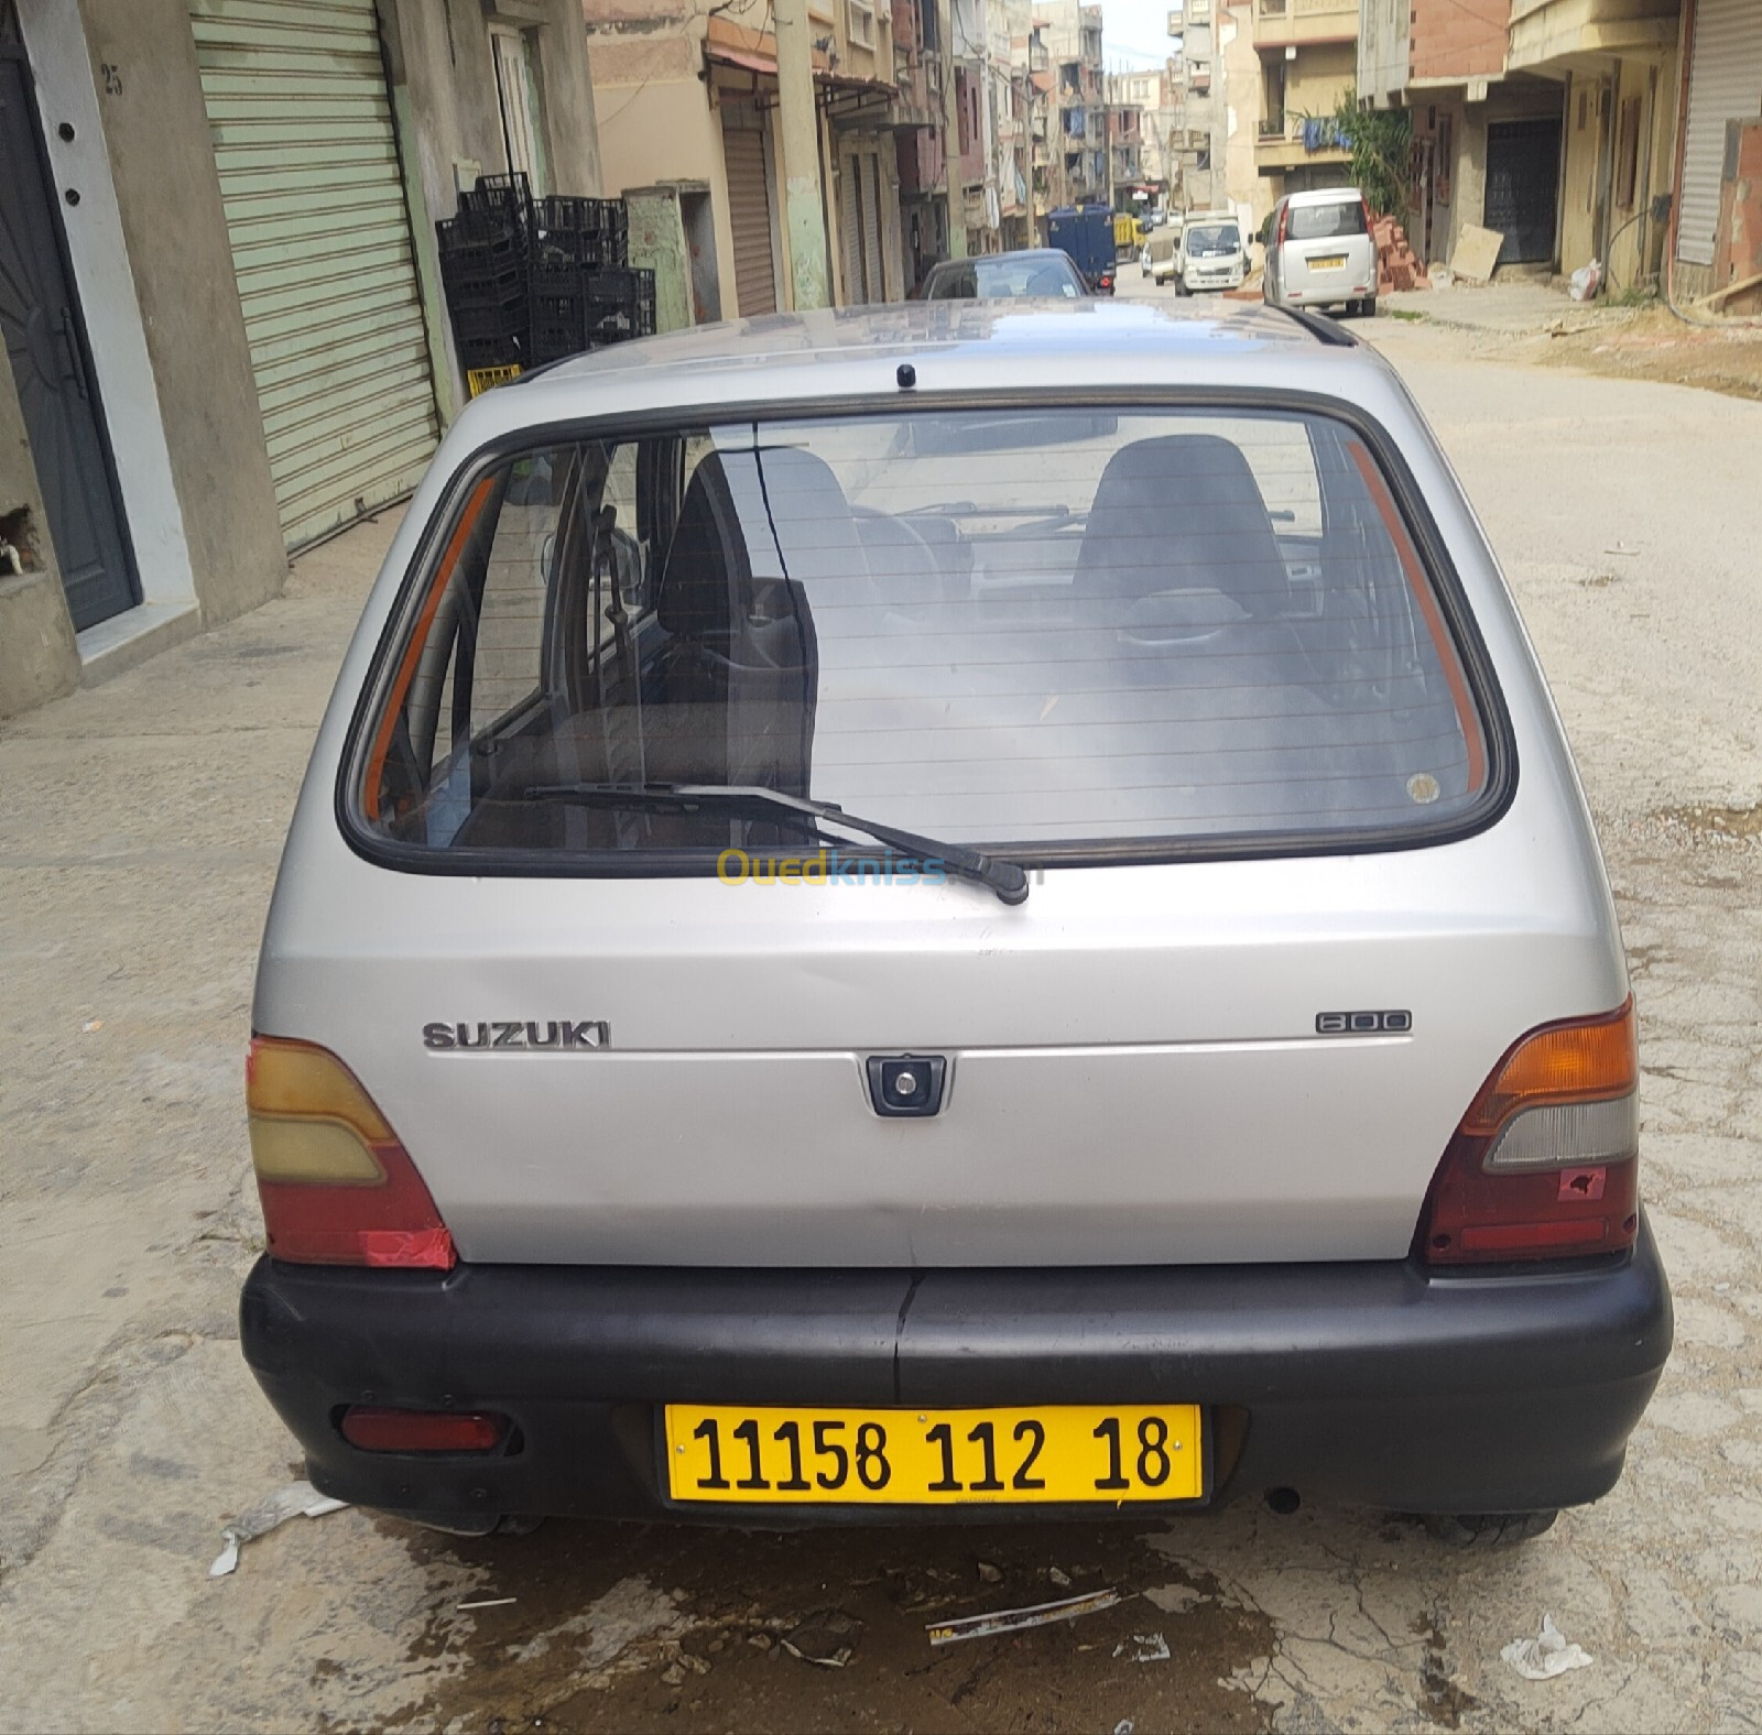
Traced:
<path fill-rule="evenodd" d="M 1417 1245 L 1431 1265 L 1618 1252 L 1639 1210 L 1630 999 L 1507 1052 L 1433 1175 Z"/>

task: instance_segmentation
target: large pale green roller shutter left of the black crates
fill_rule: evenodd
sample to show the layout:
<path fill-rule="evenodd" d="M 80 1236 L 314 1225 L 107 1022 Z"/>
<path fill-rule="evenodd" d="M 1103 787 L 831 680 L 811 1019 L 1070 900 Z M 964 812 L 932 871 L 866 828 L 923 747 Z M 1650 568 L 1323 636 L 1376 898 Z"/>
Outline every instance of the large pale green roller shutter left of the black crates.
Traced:
<path fill-rule="evenodd" d="M 433 380 L 374 0 L 190 7 L 287 546 L 416 486 Z"/>

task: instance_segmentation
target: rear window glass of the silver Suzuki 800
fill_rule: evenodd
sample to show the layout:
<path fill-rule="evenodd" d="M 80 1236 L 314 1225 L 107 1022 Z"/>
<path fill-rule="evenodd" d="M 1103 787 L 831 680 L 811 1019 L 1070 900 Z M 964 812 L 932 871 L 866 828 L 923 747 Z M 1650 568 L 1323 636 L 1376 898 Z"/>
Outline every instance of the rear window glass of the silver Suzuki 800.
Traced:
<path fill-rule="evenodd" d="M 428 546 L 347 773 L 356 823 L 405 858 L 714 870 L 789 837 L 615 798 L 657 784 L 835 801 L 1022 860 L 1399 842 L 1487 793 L 1415 539 L 1330 417 L 571 437 L 467 477 Z"/>

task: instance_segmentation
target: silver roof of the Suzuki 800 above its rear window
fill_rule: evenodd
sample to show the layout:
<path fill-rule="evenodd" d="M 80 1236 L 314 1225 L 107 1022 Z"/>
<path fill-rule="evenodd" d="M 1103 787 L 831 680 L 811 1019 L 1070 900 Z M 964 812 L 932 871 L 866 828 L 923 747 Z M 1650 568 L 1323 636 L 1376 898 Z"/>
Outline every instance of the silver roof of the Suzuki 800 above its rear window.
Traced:
<path fill-rule="evenodd" d="M 996 257 L 996 255 L 992 255 Z M 913 384 L 899 370 L 911 363 Z M 950 395 L 1311 391 L 1387 402 L 1387 363 L 1350 333 L 1260 301 L 960 299 L 766 314 L 613 343 L 465 407 L 448 449 L 599 416 L 722 407 L 890 409 Z"/>

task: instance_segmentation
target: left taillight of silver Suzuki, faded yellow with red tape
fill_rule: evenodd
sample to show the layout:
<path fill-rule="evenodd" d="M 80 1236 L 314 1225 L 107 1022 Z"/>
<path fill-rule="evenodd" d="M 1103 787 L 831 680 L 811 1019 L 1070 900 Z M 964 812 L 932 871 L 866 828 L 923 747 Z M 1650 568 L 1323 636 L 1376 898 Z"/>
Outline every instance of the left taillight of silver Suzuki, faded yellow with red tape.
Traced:
<path fill-rule="evenodd" d="M 453 1237 L 416 1164 L 328 1048 L 252 1037 L 245 1106 L 271 1258 L 451 1270 Z"/>

